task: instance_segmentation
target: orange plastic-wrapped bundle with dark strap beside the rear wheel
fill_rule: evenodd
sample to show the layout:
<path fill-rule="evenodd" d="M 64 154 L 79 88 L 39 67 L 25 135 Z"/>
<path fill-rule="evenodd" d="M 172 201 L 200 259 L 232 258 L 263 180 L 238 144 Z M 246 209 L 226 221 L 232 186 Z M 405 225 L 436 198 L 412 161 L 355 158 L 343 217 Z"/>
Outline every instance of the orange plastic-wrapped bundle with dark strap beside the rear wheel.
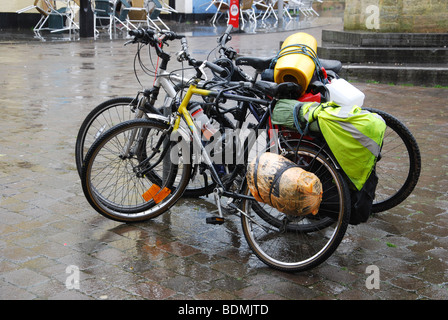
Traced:
<path fill-rule="evenodd" d="M 255 199 L 280 212 L 304 216 L 319 211 L 322 201 L 319 178 L 283 156 L 263 153 L 249 164 L 246 177 Z"/>

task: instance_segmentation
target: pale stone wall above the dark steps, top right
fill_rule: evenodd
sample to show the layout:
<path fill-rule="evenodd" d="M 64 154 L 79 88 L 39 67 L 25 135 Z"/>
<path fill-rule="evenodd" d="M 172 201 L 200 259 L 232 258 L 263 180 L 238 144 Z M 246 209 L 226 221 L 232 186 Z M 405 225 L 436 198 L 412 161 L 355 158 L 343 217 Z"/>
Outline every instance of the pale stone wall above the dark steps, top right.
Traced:
<path fill-rule="evenodd" d="M 344 30 L 448 32 L 448 1 L 346 0 Z"/>

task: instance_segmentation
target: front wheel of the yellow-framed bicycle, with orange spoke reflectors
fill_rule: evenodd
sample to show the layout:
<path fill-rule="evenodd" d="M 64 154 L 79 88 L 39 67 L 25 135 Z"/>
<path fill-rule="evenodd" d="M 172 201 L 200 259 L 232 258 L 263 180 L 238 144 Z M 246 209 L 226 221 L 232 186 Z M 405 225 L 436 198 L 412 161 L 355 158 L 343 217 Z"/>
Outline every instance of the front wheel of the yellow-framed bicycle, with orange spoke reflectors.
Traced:
<path fill-rule="evenodd" d="M 179 163 L 163 161 L 164 151 L 171 152 L 177 143 L 171 141 L 165 146 L 169 149 L 162 151 L 158 148 L 157 143 L 163 145 L 168 141 L 164 135 L 168 128 L 162 121 L 134 119 L 112 127 L 93 143 L 85 157 L 81 183 L 86 199 L 98 213 L 120 222 L 146 221 L 164 213 L 182 196 L 190 179 L 191 163 L 182 162 L 181 157 Z M 139 136 L 145 139 L 140 146 L 144 147 L 143 152 L 150 150 L 154 155 L 147 160 L 147 165 L 155 167 L 140 176 L 136 168 L 142 165 L 142 159 L 138 155 L 124 157 L 120 154 L 134 130 L 146 130 L 146 136 Z M 144 194 L 155 184 L 159 190 L 169 191 L 168 195 L 160 201 L 154 197 L 145 199 Z"/>

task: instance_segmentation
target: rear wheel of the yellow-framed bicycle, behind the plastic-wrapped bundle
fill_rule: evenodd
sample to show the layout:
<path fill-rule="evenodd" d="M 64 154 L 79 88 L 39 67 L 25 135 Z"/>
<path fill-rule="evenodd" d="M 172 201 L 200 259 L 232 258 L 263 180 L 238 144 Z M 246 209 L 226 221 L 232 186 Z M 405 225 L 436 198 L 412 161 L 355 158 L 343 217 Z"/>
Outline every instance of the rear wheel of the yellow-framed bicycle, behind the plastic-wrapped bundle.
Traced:
<path fill-rule="evenodd" d="M 317 215 L 285 215 L 268 204 L 247 199 L 241 215 L 244 236 L 255 255 L 268 266 L 287 272 L 305 271 L 328 259 L 342 241 L 350 219 L 348 185 L 331 161 L 308 148 L 298 151 L 298 159 L 302 168 L 321 180 L 323 195 Z M 259 207 L 263 210 L 257 210 Z"/>

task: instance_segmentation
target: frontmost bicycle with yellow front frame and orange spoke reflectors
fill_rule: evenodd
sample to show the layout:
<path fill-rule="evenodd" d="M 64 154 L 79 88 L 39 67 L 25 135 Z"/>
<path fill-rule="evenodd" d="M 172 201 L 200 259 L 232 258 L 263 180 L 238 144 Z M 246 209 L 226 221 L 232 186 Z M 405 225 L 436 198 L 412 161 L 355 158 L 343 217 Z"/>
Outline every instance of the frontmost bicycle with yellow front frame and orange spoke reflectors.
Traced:
<path fill-rule="evenodd" d="M 282 84 L 255 86 L 258 92 L 274 97 L 263 99 L 235 93 L 237 89 L 250 89 L 244 83 L 240 84 L 240 88 L 201 88 L 198 85 L 204 67 L 218 74 L 222 74 L 223 68 L 210 62 L 196 61 L 188 54 L 185 40 L 182 41 L 182 57 L 197 72 L 182 103 L 170 117 L 134 119 L 120 123 L 93 143 L 81 174 L 87 200 L 100 214 L 118 221 L 142 221 L 157 217 L 181 197 L 192 172 L 194 155 L 189 150 L 199 150 L 217 185 L 214 196 L 219 215 L 208 222 L 223 223 L 225 213 L 239 215 L 249 246 L 264 263 L 273 268 L 301 271 L 322 263 L 336 250 L 348 225 L 350 195 L 346 181 L 328 155 L 305 147 L 299 147 L 294 154 L 290 154 L 292 149 L 285 146 L 294 144 L 294 141 L 287 141 L 281 135 L 278 136 L 277 147 L 266 144 L 262 137 L 263 147 L 260 151 L 283 149 L 286 156 L 290 154 L 296 157 L 301 167 L 319 175 L 323 185 L 322 212 L 319 215 L 310 218 L 273 213 L 273 207 L 266 208 L 267 204 L 259 203 L 250 195 L 244 177 L 248 155 L 254 146 L 260 145 L 256 136 L 242 144 L 243 161 L 228 166 L 231 171 L 221 176 L 188 110 L 193 95 L 213 98 L 213 101 L 208 100 L 209 106 L 212 103 L 217 106 L 223 99 L 238 102 L 240 108 L 249 109 L 249 103 L 264 106 L 260 121 L 253 127 L 253 132 L 260 132 L 268 129 L 268 119 L 278 94 L 288 90 Z M 297 89 L 291 87 L 291 90 Z M 181 121 L 186 123 L 188 130 L 180 126 Z M 170 161 L 164 161 L 167 156 Z M 117 169 L 120 174 L 114 173 Z M 242 180 L 235 188 L 233 182 L 236 179 L 229 180 L 226 177 L 240 177 Z M 227 210 L 223 210 L 221 197 L 232 200 Z M 316 225 L 316 221 L 319 225 L 324 220 L 325 226 L 310 227 Z"/>

